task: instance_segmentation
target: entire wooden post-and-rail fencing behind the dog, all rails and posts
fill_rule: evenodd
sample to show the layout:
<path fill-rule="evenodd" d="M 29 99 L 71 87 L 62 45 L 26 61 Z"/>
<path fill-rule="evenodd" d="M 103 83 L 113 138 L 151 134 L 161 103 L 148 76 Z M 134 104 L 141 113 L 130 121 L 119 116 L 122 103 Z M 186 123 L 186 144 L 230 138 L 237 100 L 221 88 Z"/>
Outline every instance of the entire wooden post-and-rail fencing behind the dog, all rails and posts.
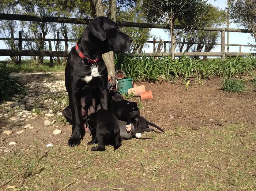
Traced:
<path fill-rule="evenodd" d="M 0 20 L 21 20 L 21 21 L 35 21 L 35 22 L 52 22 L 52 23 L 70 23 L 70 24 L 89 24 L 90 19 L 80 19 L 80 18 L 64 18 L 64 17 L 42 17 L 42 16 L 32 16 L 32 15 L 18 15 L 18 14 L 4 14 L 0 13 Z M 136 27 L 136 28 L 161 28 L 161 29 L 170 29 L 169 25 L 162 24 L 148 24 L 148 23 L 132 23 L 132 22 L 123 22 L 117 21 L 118 25 L 121 27 Z M 182 26 L 175 25 L 174 29 L 183 29 Z M 224 61 L 225 56 L 247 56 L 255 53 L 243 53 L 241 52 L 242 46 L 250 46 L 250 45 L 240 45 L 240 44 L 225 44 L 225 32 L 242 32 L 242 33 L 250 33 L 250 30 L 247 29 L 236 29 L 236 28 L 213 28 L 213 27 L 203 27 L 197 30 L 204 31 L 220 31 L 220 52 L 186 52 L 186 53 L 174 53 L 175 57 L 185 56 L 220 56 Z M 21 35 L 21 34 L 20 34 Z M 8 38 L 0 38 L 0 40 L 8 40 Z M 14 39 L 19 40 L 19 44 L 24 41 L 35 41 L 36 39 L 22 39 L 21 36 L 19 38 Z M 20 42 L 21 41 L 21 42 Z M 65 41 L 64 39 L 45 39 L 45 41 L 49 42 L 49 49 L 51 50 L 51 41 Z M 67 41 L 73 41 L 72 39 L 68 39 Z M 153 41 L 148 41 L 149 43 Z M 166 50 L 166 43 L 170 43 L 169 41 L 164 42 L 164 50 Z M 182 43 L 182 42 L 177 42 Z M 186 42 L 185 42 L 186 43 Z M 197 44 L 197 43 L 193 43 Z M 239 53 L 237 52 L 225 52 L 225 46 L 239 46 Z M 252 47 L 252 46 L 250 46 Z M 40 51 L 40 50 L 4 50 L 0 49 L 0 56 L 49 56 L 49 57 L 67 57 L 69 52 L 65 51 Z M 124 53 L 127 56 L 138 55 L 141 56 L 142 53 Z M 171 53 L 143 53 L 145 56 L 168 56 Z"/>

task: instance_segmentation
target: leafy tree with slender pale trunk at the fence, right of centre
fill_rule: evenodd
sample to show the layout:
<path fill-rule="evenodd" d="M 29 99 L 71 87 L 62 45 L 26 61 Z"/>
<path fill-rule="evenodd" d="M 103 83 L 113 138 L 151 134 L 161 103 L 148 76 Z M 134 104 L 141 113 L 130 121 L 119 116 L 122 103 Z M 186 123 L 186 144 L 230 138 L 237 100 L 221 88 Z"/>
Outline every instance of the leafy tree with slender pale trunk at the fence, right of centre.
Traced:
<path fill-rule="evenodd" d="M 175 20 L 184 30 L 198 28 L 202 26 L 201 20 L 209 9 L 206 0 L 143 0 L 143 3 L 147 19 L 170 25 L 171 52 L 175 50 Z"/>

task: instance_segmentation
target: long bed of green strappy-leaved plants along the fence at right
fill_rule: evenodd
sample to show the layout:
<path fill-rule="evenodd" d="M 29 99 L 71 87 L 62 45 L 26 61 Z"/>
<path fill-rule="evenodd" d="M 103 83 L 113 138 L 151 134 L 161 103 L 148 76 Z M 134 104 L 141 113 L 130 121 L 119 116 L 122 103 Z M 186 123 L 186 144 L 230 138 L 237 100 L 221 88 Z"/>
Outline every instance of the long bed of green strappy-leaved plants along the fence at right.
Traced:
<path fill-rule="evenodd" d="M 136 80 L 158 81 L 190 77 L 200 79 L 210 76 L 234 77 L 237 74 L 252 74 L 256 68 L 256 57 L 227 57 L 223 62 L 220 58 L 208 61 L 195 60 L 190 57 L 127 57 L 115 55 L 115 68 L 126 72 L 127 77 Z"/>

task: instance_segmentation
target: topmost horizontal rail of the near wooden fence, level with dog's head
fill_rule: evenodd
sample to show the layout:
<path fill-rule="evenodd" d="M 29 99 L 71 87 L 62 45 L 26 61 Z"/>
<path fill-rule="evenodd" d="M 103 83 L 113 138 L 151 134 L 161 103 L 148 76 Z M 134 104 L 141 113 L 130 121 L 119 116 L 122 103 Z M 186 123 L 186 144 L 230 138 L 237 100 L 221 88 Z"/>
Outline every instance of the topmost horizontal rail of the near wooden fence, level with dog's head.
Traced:
<path fill-rule="evenodd" d="M 21 20 L 21 21 L 36 21 L 36 22 L 49 22 L 49 23 L 70 23 L 70 24 L 89 24 L 92 19 L 70 18 L 70 17 L 43 17 L 35 15 L 19 15 L 19 14 L 5 14 L 0 13 L 0 20 Z M 162 28 L 170 29 L 170 25 L 164 24 L 152 24 L 152 23 L 132 23 L 125 21 L 117 21 L 120 27 L 135 27 L 135 28 Z M 174 25 L 174 29 L 184 29 L 180 25 Z M 197 30 L 204 31 L 229 31 L 229 32 L 243 32 L 250 33 L 247 29 L 237 28 L 214 28 L 214 27 L 202 27 Z"/>

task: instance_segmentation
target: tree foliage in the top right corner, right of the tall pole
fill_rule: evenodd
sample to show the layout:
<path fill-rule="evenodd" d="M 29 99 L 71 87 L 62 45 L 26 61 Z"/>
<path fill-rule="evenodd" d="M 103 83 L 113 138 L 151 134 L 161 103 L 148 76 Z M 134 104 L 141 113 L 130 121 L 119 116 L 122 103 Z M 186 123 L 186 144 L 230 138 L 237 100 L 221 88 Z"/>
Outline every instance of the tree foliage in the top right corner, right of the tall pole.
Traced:
<path fill-rule="evenodd" d="M 233 23 L 252 31 L 256 49 L 256 0 L 230 0 L 229 12 Z"/>

